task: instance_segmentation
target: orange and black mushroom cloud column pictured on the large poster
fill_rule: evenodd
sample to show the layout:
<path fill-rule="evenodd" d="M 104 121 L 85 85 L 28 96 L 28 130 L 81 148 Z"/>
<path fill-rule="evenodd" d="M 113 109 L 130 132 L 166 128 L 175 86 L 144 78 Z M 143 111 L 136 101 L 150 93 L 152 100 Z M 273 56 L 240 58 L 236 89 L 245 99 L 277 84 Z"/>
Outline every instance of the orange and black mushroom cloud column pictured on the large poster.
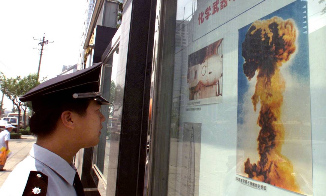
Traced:
<path fill-rule="evenodd" d="M 274 16 L 268 20 L 255 21 L 246 33 L 242 44 L 244 74 L 250 80 L 256 71 L 257 83 L 251 97 L 254 110 L 260 101 L 257 124 L 258 163 L 244 163 L 248 177 L 271 185 L 300 192 L 293 173 L 292 163 L 281 148 L 284 143 L 284 126 L 281 122 L 281 107 L 285 80 L 280 67 L 296 50 L 297 28 L 293 20 Z M 293 56 L 293 55 L 292 55 Z"/>

